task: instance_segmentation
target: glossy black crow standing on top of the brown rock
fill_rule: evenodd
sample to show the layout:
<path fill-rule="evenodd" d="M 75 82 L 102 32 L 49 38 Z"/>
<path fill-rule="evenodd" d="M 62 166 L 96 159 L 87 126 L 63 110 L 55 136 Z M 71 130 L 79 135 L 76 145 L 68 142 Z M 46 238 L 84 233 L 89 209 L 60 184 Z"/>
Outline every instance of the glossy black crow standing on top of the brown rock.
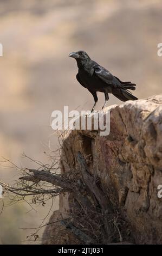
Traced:
<path fill-rule="evenodd" d="M 107 69 L 90 59 L 86 52 L 71 52 L 69 57 L 76 59 L 78 66 L 78 73 L 76 75 L 77 81 L 83 87 L 87 88 L 94 97 L 95 103 L 92 112 L 98 101 L 96 92 L 105 94 L 105 104 L 102 109 L 106 106 L 109 93 L 112 93 L 121 101 L 138 100 L 137 97 L 133 96 L 132 93 L 128 91 L 128 89 L 135 90 L 135 83 L 120 81 L 118 77 L 113 76 Z"/>

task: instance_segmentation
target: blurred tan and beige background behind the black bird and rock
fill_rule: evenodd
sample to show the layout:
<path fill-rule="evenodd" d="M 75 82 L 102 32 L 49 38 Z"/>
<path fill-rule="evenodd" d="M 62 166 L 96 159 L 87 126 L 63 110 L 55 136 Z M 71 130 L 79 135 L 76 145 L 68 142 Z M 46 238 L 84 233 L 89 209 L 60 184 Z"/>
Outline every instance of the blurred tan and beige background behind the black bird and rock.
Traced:
<path fill-rule="evenodd" d="M 43 152 L 58 147 L 49 126 L 52 111 L 92 108 L 92 95 L 75 79 L 72 51 L 85 50 L 121 80 L 137 83 L 139 98 L 161 94 L 161 24 L 161 0 L 1 0 L 0 155 L 28 167 L 33 163 L 22 159 L 23 152 L 47 162 Z M 99 94 L 98 109 L 103 101 Z M 109 105 L 114 103 L 122 102 L 111 95 Z M 0 179 L 16 178 L 2 162 Z M 25 243 L 31 230 L 22 228 L 37 227 L 49 208 L 27 213 L 27 204 L 6 207 L 0 243 Z"/>

